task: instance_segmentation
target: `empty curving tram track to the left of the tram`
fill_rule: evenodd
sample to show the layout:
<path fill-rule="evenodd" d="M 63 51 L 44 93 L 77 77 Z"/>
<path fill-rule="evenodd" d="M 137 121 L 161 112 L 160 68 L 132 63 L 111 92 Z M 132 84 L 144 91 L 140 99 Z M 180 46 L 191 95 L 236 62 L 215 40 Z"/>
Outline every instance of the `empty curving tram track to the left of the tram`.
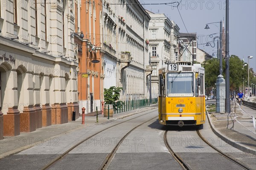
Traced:
<path fill-rule="evenodd" d="M 131 120 L 133 120 L 133 119 L 139 118 L 139 117 L 141 117 L 141 116 L 147 115 L 147 114 L 152 113 L 152 112 L 155 112 L 155 110 L 154 110 L 154 111 L 151 111 L 151 112 L 147 112 L 147 113 L 145 113 L 145 114 L 143 114 L 143 115 L 139 115 L 139 116 L 137 116 L 137 117 L 135 117 L 135 118 L 131 118 L 131 119 L 126 120 L 126 121 L 122 121 L 122 122 L 120 122 L 120 123 L 118 123 L 118 124 L 114 124 L 114 125 L 112 125 L 112 126 L 110 126 L 110 127 L 107 127 L 107 128 L 105 128 L 105 129 L 103 129 L 103 130 L 100 130 L 100 131 L 97 132 L 97 133 L 94 133 L 93 135 L 90 135 L 89 137 L 83 139 L 83 140 L 80 141 L 79 143 L 73 145 L 73 147 L 70 147 L 70 149 L 66 150 L 64 153 L 62 153 L 61 155 L 59 155 L 58 157 L 56 157 L 55 159 L 53 159 L 52 161 L 50 161 L 48 164 L 46 164 L 46 165 L 45 165 L 44 167 L 42 167 L 40 170 L 46 170 L 47 168 L 52 167 L 55 163 L 57 163 L 58 161 L 60 161 L 61 158 L 64 158 L 68 153 L 70 153 L 70 151 L 72 151 L 73 149 L 75 149 L 76 147 L 78 147 L 80 144 L 84 143 L 84 142 L 87 141 L 88 139 L 93 138 L 93 137 L 96 136 L 97 134 L 102 133 L 103 131 L 108 130 L 108 129 L 112 128 L 112 127 L 115 127 L 115 126 L 117 126 L 117 125 L 119 125 L 119 124 L 123 124 L 123 123 L 125 123 L 125 122 L 127 122 L 127 121 L 131 121 Z M 156 117 L 154 117 L 154 118 L 157 118 L 157 117 L 158 117 L 158 115 L 157 115 Z M 151 120 L 154 119 L 154 118 L 151 118 L 151 119 L 149 119 L 149 120 L 147 120 L 147 121 L 144 121 L 142 124 L 139 124 L 138 126 L 134 127 L 134 128 L 133 128 L 132 130 L 130 130 L 123 138 L 121 138 L 121 140 L 118 142 L 118 144 L 116 144 L 116 146 L 114 147 L 114 149 L 112 150 L 112 152 L 109 153 L 108 156 L 105 158 L 105 160 L 103 161 L 103 163 L 101 164 L 101 166 L 100 166 L 99 169 L 102 169 L 102 170 L 103 170 L 104 168 L 106 168 L 106 167 L 109 165 L 109 163 L 111 162 L 111 159 L 112 159 L 113 156 L 114 156 L 114 153 L 115 153 L 116 150 L 118 149 L 119 145 L 122 144 L 122 141 L 125 139 L 125 137 L 126 137 L 127 135 L 129 135 L 129 134 L 130 134 L 133 130 L 135 130 L 137 127 L 140 127 L 141 125 L 145 124 L 145 123 L 148 122 L 148 121 L 151 121 Z"/>

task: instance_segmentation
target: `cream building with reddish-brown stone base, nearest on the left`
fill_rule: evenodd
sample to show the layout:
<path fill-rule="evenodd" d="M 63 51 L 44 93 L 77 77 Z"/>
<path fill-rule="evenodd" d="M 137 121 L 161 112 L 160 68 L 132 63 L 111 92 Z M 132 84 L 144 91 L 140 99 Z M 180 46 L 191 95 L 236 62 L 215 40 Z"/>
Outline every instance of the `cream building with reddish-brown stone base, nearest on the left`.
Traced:
<path fill-rule="evenodd" d="M 78 118 L 73 0 L 0 3 L 0 133 Z"/>

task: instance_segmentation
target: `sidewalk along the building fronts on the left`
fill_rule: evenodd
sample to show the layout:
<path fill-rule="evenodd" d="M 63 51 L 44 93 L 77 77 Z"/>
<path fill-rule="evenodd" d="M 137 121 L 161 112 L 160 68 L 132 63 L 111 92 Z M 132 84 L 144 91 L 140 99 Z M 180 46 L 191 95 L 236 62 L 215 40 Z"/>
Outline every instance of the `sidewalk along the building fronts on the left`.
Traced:
<path fill-rule="evenodd" d="M 98 123 L 96 122 L 96 116 L 93 116 L 94 114 L 85 114 L 84 125 L 81 124 L 82 117 L 80 115 L 76 121 L 69 121 L 66 124 L 54 124 L 49 127 L 42 127 L 31 133 L 20 133 L 20 135 L 17 136 L 4 136 L 4 138 L 0 140 L 0 159 L 19 153 L 20 151 L 26 150 L 35 145 L 54 142 L 55 140 L 58 140 L 58 136 L 74 132 L 80 128 L 88 128 L 93 125 L 105 124 L 119 118 L 135 115 L 157 107 L 158 104 L 151 104 L 149 107 L 113 114 L 113 117 L 110 117 L 109 119 L 104 117 L 104 115 L 99 114 L 101 112 L 98 112 Z"/>

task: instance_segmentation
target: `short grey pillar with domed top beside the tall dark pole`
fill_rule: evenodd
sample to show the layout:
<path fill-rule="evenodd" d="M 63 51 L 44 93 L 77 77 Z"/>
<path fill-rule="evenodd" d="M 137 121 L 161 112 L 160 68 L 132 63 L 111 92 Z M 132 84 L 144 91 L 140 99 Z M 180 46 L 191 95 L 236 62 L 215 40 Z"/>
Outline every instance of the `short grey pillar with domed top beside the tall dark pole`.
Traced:
<path fill-rule="evenodd" d="M 218 75 L 216 85 L 216 112 L 224 113 L 225 112 L 225 79 L 222 75 Z"/>

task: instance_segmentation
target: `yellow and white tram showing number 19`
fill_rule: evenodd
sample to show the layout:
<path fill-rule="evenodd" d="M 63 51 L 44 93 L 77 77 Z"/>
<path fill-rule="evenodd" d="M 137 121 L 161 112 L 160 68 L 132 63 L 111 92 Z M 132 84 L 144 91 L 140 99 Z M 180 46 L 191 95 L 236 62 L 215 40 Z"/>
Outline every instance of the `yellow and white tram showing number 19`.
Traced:
<path fill-rule="evenodd" d="M 205 123 L 204 68 L 188 62 L 159 69 L 159 122 L 164 125 Z"/>

